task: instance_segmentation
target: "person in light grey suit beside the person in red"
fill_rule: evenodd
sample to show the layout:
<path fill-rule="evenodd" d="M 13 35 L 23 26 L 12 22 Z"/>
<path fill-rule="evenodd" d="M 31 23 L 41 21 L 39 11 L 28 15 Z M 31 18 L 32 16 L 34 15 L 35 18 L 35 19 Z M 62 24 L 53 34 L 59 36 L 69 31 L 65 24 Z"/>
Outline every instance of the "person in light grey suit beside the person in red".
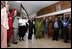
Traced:
<path fill-rule="evenodd" d="M 18 39 L 18 17 L 15 15 L 14 16 L 14 21 L 13 21 L 13 43 L 17 44 L 17 39 Z"/>

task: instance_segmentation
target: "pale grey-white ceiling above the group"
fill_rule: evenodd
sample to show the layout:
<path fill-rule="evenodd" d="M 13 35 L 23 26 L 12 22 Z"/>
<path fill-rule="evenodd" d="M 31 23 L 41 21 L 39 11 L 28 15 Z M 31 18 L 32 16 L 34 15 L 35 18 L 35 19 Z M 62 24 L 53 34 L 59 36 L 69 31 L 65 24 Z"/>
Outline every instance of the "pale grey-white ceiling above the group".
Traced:
<path fill-rule="evenodd" d="M 55 4 L 57 2 L 59 1 L 21 1 L 21 2 L 9 1 L 8 4 L 10 5 L 10 8 L 16 8 L 17 10 L 20 11 L 20 3 L 21 3 L 26 9 L 27 13 L 29 15 L 32 15 L 34 13 L 37 13 L 40 9 Z M 26 15 L 23 10 L 22 13 Z"/>

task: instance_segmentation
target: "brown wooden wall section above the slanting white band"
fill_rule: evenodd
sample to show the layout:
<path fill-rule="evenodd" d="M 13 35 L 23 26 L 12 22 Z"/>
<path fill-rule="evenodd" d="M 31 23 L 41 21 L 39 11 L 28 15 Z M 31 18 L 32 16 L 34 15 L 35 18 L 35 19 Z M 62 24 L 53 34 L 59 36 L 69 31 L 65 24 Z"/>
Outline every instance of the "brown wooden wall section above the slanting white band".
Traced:
<path fill-rule="evenodd" d="M 71 1 L 61 1 L 56 4 L 50 5 L 48 7 L 45 7 L 37 12 L 37 16 L 44 15 L 44 14 L 51 13 L 51 12 L 55 12 L 57 5 L 61 6 L 61 10 L 71 8 Z"/>

